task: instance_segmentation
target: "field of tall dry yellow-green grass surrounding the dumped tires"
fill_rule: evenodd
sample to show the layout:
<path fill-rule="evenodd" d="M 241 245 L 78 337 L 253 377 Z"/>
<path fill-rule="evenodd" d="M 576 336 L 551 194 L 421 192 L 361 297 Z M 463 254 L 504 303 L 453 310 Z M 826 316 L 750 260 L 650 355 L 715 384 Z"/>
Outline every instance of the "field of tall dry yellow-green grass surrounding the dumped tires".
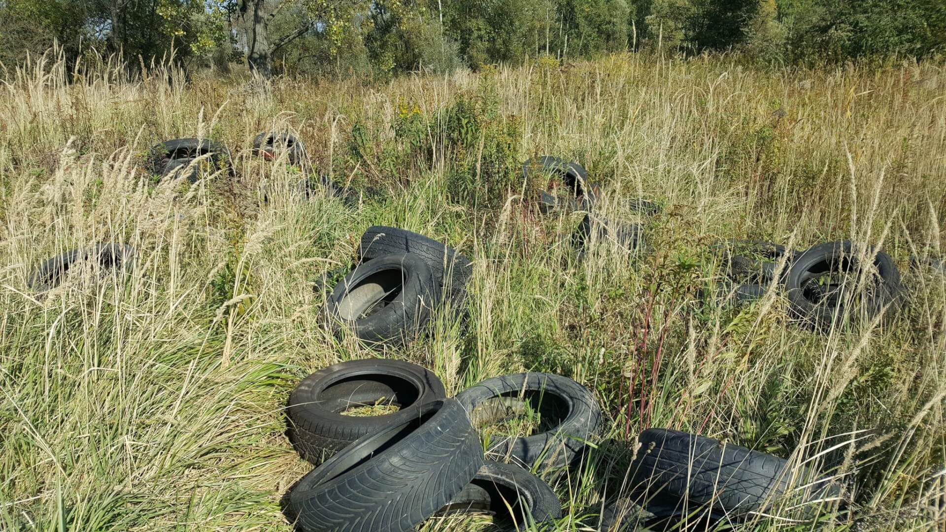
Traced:
<path fill-rule="evenodd" d="M 377 356 L 326 332 L 313 286 L 373 224 L 475 263 L 468 325 L 437 316 L 381 356 L 430 367 L 450 394 L 529 369 L 601 402 L 601 443 L 554 481 L 566 517 L 544 529 L 596 530 L 647 427 L 807 461 L 852 501 L 741 529 L 946 523 L 946 280 L 909 267 L 946 252 L 946 65 L 619 55 L 383 85 L 120 66 L 74 76 L 47 59 L 0 85 L 0 530 L 290 530 L 280 499 L 311 466 L 285 435 L 289 391 Z M 298 168 L 251 157 L 271 128 L 359 201 L 306 197 Z M 149 147 L 199 135 L 231 148 L 236 178 L 156 182 Z M 600 212 L 644 223 L 648 251 L 600 241 L 578 260 L 583 215 L 539 214 L 542 184 L 521 175 L 545 153 L 585 165 Z M 641 197 L 662 213 L 641 219 Z M 703 295 L 721 275 L 710 245 L 733 238 L 883 245 L 910 299 L 888 324 L 826 333 L 794 323 L 778 290 L 721 303 Z M 27 288 L 46 257 L 101 241 L 138 250 L 131 273 Z"/>

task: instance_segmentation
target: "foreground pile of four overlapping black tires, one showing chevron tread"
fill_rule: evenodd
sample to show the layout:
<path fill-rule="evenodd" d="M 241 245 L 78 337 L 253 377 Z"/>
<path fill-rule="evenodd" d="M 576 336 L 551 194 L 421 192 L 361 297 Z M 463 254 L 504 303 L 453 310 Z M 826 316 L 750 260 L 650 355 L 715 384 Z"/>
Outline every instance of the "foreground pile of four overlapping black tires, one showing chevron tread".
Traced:
<path fill-rule="evenodd" d="M 378 405 L 398 410 L 344 415 Z M 542 417 L 540 432 L 482 439 L 482 424 L 525 408 Z M 309 375 L 289 397 L 288 417 L 294 447 L 317 466 L 289 492 L 289 519 L 308 532 L 406 532 L 467 512 L 492 514 L 500 526 L 560 518 L 552 488 L 530 470 L 574 465 L 602 420 L 591 392 L 562 376 L 507 375 L 447 399 L 428 369 L 380 359 Z"/>

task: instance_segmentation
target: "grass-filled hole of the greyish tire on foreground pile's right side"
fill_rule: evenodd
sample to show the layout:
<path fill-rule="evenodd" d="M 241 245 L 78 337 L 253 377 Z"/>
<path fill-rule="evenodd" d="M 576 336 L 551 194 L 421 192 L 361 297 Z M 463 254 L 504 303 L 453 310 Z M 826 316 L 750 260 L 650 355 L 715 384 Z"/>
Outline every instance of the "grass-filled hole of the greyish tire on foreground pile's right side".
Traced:
<path fill-rule="evenodd" d="M 527 437 L 550 432 L 569 415 L 563 399 L 544 391 L 508 392 L 473 408 L 470 419 L 483 439 Z"/>

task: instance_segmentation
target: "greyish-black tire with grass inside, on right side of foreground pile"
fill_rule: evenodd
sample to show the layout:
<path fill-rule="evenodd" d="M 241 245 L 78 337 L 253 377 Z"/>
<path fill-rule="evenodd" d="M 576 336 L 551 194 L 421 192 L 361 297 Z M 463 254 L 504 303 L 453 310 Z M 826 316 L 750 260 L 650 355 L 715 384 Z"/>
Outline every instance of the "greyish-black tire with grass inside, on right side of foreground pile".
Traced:
<path fill-rule="evenodd" d="M 590 390 L 550 373 L 494 377 L 466 388 L 457 399 L 470 413 L 474 426 L 515 417 L 526 404 L 546 419 L 546 429 L 538 434 L 489 442 L 491 459 L 509 459 L 527 470 L 572 465 L 602 423 L 601 409 Z"/>

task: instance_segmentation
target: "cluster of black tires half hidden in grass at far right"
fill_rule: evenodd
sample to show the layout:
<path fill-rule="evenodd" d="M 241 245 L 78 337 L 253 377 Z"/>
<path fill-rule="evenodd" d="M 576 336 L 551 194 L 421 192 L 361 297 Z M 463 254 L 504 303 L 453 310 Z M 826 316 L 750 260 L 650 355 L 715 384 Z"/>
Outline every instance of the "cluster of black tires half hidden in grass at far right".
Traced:
<path fill-rule="evenodd" d="M 816 328 L 831 328 L 841 316 L 888 318 L 900 309 L 900 272 L 883 251 L 850 240 L 824 242 L 806 251 L 771 242 L 735 240 L 718 244 L 729 282 L 717 292 L 737 301 L 758 299 L 782 285 L 792 313 Z"/>

